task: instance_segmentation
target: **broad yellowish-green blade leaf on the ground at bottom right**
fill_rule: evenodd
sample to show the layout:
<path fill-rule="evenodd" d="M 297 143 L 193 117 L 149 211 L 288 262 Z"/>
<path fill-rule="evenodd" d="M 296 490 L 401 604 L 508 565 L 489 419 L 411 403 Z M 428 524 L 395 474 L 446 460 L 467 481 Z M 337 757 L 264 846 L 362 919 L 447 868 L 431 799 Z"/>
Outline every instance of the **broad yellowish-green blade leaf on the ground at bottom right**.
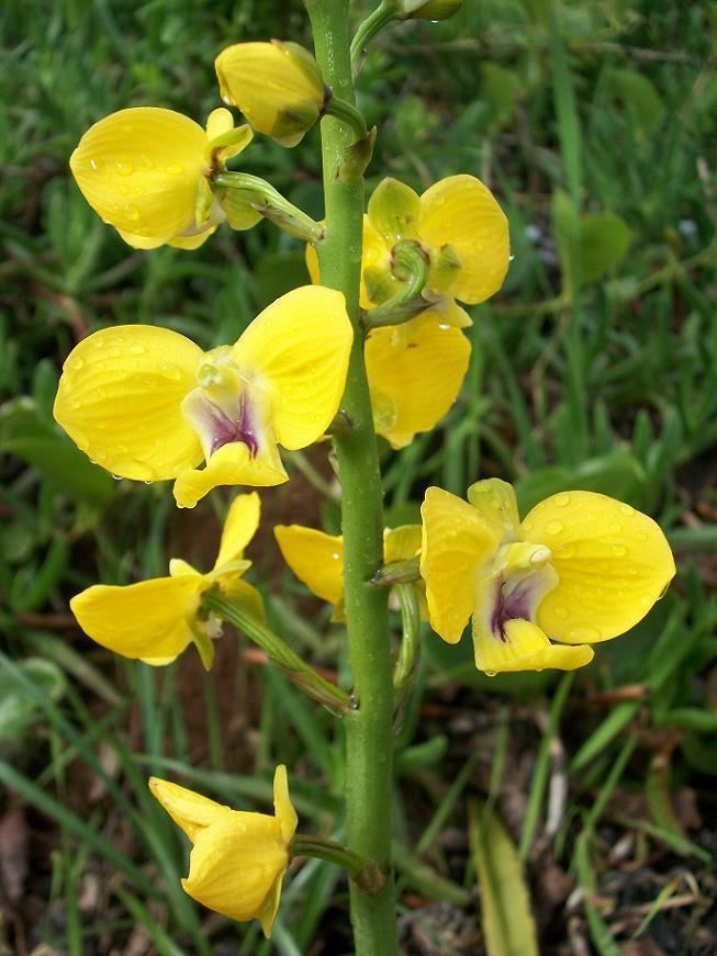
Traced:
<path fill-rule="evenodd" d="M 513 841 L 497 814 L 478 800 L 469 802 L 468 825 L 489 956 L 538 956 L 530 898 Z"/>

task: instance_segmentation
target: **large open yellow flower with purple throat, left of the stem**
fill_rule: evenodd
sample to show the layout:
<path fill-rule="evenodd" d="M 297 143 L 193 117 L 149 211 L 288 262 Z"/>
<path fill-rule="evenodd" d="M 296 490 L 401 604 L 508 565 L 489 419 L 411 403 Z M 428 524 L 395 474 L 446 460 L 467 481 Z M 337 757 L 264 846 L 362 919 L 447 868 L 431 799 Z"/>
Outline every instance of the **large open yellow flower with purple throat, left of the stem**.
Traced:
<path fill-rule="evenodd" d="M 166 328 L 105 328 L 65 362 L 55 418 L 112 474 L 176 479 L 180 507 L 217 485 L 278 485 L 277 445 L 305 448 L 334 418 L 352 337 L 344 295 L 320 285 L 282 295 L 209 352 Z"/>

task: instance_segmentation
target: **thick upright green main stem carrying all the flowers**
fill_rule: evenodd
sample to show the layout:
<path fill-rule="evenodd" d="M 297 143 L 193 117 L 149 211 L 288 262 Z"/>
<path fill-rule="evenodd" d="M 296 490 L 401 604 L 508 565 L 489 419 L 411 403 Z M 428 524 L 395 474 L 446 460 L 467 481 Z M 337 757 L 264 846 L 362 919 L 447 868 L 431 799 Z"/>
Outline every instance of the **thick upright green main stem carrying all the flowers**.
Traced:
<path fill-rule="evenodd" d="M 354 102 L 348 0 L 304 0 L 316 60 L 336 94 Z M 318 247 L 324 285 L 340 290 L 355 328 L 341 408 L 352 423 L 334 437 L 341 482 L 344 598 L 348 655 L 358 704 L 347 715 L 346 825 L 350 848 L 373 859 L 386 875 L 373 896 L 350 886 L 356 956 L 397 956 L 395 889 L 391 868 L 393 787 L 393 682 L 388 592 L 373 587 L 381 565 L 383 508 L 381 471 L 363 362 L 359 285 L 363 181 L 337 177 L 350 134 L 333 116 L 322 121 L 326 234 Z"/>

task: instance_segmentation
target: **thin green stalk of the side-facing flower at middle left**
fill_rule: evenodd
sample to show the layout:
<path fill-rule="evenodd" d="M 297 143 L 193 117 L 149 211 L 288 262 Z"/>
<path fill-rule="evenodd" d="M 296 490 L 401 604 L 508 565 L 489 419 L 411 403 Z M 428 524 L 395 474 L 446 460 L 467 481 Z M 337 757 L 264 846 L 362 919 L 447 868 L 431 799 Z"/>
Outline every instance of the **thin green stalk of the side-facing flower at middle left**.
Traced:
<path fill-rule="evenodd" d="M 206 610 L 214 611 L 222 620 L 243 631 L 293 684 L 314 700 L 341 717 L 351 713 L 351 701 L 345 690 L 317 674 L 299 654 L 284 644 L 278 634 L 248 615 L 239 604 L 214 588 L 204 595 L 202 605 Z"/>

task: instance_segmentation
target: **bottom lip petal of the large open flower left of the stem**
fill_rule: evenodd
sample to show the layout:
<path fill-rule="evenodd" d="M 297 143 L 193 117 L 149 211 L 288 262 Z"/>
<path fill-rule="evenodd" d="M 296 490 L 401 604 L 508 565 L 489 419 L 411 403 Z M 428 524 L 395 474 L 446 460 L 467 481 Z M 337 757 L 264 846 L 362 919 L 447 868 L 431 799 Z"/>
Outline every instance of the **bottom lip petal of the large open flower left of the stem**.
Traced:
<path fill-rule="evenodd" d="M 251 457 L 244 442 L 222 446 L 203 469 L 183 471 L 175 482 L 175 499 L 180 508 L 193 508 L 197 502 L 220 485 L 254 485 L 270 487 L 289 481 L 276 445 L 269 440 Z"/>

